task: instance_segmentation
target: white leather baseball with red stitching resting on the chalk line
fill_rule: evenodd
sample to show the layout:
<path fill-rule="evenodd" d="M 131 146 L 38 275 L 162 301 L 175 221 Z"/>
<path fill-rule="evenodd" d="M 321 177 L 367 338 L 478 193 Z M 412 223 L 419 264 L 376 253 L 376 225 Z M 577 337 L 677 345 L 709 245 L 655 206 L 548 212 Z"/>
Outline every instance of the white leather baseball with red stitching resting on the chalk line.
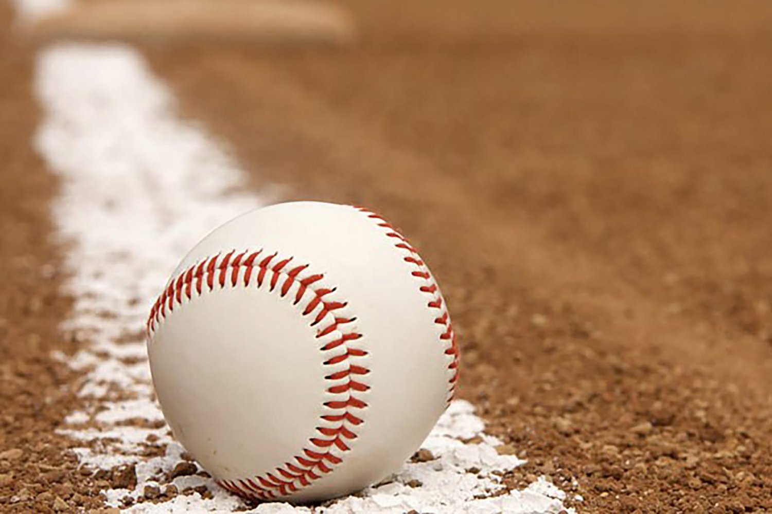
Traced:
<path fill-rule="evenodd" d="M 315 501 L 397 471 L 445 410 L 445 301 L 381 217 L 331 203 L 246 213 L 202 240 L 147 322 L 174 435 L 218 483 Z"/>

